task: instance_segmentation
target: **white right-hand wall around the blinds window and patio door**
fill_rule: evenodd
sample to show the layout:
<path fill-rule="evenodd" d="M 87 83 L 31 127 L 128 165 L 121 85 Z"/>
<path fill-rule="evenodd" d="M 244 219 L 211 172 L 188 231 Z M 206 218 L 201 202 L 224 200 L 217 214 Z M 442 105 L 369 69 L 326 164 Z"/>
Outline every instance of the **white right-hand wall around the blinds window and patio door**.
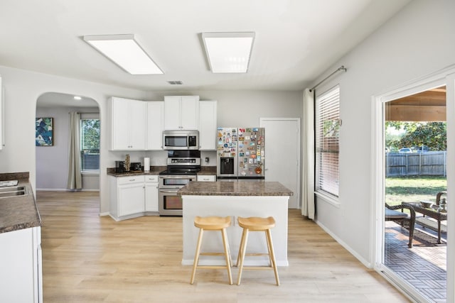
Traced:
<path fill-rule="evenodd" d="M 341 85 L 343 120 L 340 205 L 318 198 L 317 221 L 366 264 L 373 262 L 371 98 L 455 63 L 454 12 L 455 1 L 411 1 L 324 75 L 340 65 L 345 65 L 348 72 L 339 73 L 316 89 L 316 94 L 321 94 Z"/>

